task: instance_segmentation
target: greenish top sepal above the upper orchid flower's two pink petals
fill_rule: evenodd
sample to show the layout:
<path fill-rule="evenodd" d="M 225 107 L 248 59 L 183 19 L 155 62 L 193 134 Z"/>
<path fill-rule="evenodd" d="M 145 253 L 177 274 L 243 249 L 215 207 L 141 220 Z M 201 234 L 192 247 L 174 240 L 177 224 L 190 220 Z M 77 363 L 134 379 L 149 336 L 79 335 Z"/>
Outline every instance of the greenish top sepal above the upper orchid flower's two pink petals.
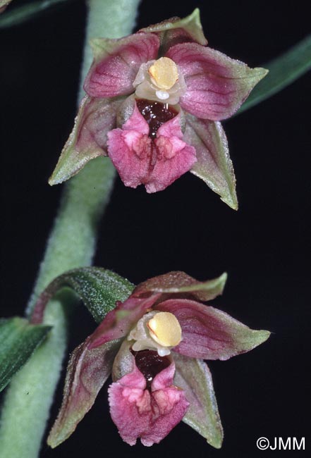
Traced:
<path fill-rule="evenodd" d="M 164 20 L 159 24 L 150 25 L 140 30 L 140 32 L 159 33 L 161 44 L 164 44 L 164 51 L 173 44 L 189 41 L 195 41 L 205 46 L 207 39 L 202 30 L 200 20 L 200 10 L 195 8 L 186 18 L 171 18 Z"/>

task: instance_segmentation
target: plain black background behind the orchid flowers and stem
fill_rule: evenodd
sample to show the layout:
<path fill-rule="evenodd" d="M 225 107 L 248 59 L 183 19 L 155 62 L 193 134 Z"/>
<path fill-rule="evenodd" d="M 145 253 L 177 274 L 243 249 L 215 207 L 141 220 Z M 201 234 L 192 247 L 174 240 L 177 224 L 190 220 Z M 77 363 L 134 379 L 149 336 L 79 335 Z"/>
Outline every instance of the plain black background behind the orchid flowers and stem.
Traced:
<path fill-rule="evenodd" d="M 138 28 L 186 16 L 196 6 L 209 46 L 250 66 L 283 53 L 309 32 L 310 16 L 300 1 L 144 0 Z M 76 1 L 1 32 L 4 316 L 23 314 L 58 206 L 61 186 L 49 187 L 47 178 L 75 116 L 84 23 L 84 4 Z M 133 283 L 171 270 L 200 280 L 227 271 L 226 290 L 214 305 L 252 328 L 272 331 L 252 352 L 209 364 L 224 425 L 222 449 L 209 447 L 183 423 L 151 449 L 123 444 L 109 417 L 104 388 L 73 436 L 54 451 L 44 445 L 42 457 L 80 458 L 90 452 L 150 458 L 276 456 L 276 451 L 257 450 L 260 436 L 305 436 L 310 450 L 305 420 L 310 412 L 309 94 L 305 75 L 224 123 L 236 171 L 238 212 L 190 174 L 151 195 L 117 179 L 100 230 L 96 265 Z M 80 307 L 70 350 L 93 327 Z"/>

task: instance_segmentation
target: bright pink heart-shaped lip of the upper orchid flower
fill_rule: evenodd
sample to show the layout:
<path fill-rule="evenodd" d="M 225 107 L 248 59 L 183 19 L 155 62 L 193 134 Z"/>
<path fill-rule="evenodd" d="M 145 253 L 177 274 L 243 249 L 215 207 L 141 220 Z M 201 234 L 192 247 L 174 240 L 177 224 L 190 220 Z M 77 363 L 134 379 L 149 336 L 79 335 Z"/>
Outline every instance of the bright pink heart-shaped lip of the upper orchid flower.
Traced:
<path fill-rule="evenodd" d="M 152 141 L 149 126 L 135 105 L 122 129 L 108 134 L 108 151 L 126 186 L 144 184 L 147 192 L 164 190 L 195 163 L 195 149 L 183 142 L 181 114 L 162 124 Z"/>

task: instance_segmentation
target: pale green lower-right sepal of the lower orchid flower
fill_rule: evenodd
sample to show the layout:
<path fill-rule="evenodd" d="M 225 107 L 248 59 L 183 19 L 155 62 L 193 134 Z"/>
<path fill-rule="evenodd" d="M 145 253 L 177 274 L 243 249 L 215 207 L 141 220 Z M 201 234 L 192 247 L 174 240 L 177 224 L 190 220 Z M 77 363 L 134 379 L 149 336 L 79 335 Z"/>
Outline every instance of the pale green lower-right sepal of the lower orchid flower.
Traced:
<path fill-rule="evenodd" d="M 185 391 L 190 402 L 183 421 L 202 435 L 215 448 L 220 448 L 224 437 L 212 374 L 200 359 L 174 354 L 176 373 L 174 383 Z"/>

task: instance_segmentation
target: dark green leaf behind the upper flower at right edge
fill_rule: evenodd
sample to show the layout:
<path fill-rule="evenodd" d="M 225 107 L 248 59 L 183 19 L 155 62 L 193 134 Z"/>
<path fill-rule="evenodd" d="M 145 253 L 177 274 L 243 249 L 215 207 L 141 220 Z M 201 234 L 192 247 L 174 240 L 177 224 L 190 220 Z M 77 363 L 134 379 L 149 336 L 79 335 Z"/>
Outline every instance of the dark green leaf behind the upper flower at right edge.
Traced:
<path fill-rule="evenodd" d="M 250 97 L 236 114 L 243 113 L 243 111 L 268 99 L 311 69 L 311 35 L 308 35 L 282 56 L 265 63 L 263 67 L 269 70 L 268 75 L 252 90 Z"/>

